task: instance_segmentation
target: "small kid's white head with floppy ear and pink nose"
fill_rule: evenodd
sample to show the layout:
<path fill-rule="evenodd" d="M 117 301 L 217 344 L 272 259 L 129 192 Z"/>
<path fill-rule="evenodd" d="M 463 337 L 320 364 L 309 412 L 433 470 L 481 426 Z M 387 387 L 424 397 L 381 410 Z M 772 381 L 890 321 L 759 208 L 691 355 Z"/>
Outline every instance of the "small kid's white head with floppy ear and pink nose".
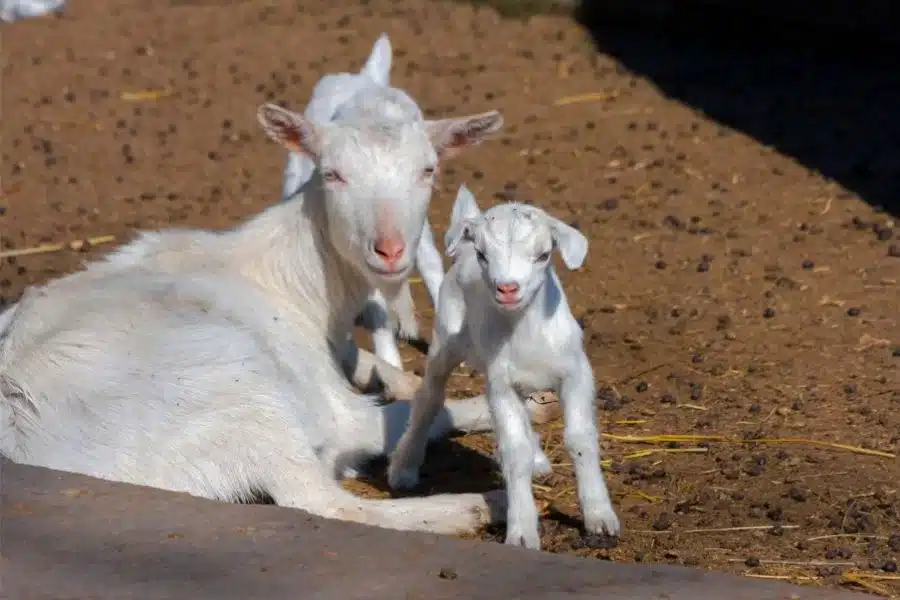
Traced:
<path fill-rule="evenodd" d="M 577 229 L 530 204 L 498 204 L 481 212 L 475 197 L 460 187 L 444 238 L 447 255 L 471 245 L 485 285 L 503 310 L 527 307 L 547 280 L 557 249 L 569 269 L 587 256 L 587 238 Z"/>

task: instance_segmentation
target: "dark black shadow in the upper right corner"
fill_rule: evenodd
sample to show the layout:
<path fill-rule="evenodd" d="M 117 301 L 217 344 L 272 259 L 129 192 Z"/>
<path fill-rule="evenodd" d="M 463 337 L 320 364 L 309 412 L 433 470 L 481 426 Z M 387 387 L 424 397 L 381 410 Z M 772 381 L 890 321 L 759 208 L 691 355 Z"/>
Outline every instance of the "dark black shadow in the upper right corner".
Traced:
<path fill-rule="evenodd" d="M 840 27 L 839 15 L 801 26 L 690 3 L 671 18 L 622 19 L 630 9 L 613 4 L 589 0 L 577 11 L 599 51 L 669 97 L 900 214 L 900 49 L 881 27 Z M 803 2 L 783 4 L 795 15 Z"/>

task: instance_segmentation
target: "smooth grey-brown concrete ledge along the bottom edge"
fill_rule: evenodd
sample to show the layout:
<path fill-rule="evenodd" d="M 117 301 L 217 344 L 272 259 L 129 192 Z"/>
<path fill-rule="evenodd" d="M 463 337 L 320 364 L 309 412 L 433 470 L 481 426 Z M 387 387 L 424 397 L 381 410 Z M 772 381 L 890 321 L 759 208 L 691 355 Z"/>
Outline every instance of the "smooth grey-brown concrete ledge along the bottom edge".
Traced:
<path fill-rule="evenodd" d="M 0 597 L 15 600 L 865 597 L 405 534 L 11 462 L 0 468 Z"/>

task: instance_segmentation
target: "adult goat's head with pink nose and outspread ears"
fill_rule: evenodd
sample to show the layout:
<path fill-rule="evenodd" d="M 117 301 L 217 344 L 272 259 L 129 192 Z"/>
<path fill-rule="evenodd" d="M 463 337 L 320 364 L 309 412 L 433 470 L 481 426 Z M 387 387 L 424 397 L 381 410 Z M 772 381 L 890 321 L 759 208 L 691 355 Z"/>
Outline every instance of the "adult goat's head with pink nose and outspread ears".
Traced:
<path fill-rule="evenodd" d="M 313 160 L 332 245 L 377 287 L 396 285 L 413 267 L 439 161 L 503 125 L 497 111 L 437 121 L 312 123 L 264 104 L 257 117 L 269 138 Z"/>

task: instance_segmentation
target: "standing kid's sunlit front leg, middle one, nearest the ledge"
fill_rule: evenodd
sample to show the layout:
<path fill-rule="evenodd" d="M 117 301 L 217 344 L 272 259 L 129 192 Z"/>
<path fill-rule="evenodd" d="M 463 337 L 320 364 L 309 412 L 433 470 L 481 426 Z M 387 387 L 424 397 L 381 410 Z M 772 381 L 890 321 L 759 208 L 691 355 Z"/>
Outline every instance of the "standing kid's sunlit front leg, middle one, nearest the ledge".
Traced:
<path fill-rule="evenodd" d="M 528 411 L 502 376 L 488 373 L 487 397 L 509 501 L 506 543 L 540 550 L 538 511 L 531 487 L 535 440 Z"/>

